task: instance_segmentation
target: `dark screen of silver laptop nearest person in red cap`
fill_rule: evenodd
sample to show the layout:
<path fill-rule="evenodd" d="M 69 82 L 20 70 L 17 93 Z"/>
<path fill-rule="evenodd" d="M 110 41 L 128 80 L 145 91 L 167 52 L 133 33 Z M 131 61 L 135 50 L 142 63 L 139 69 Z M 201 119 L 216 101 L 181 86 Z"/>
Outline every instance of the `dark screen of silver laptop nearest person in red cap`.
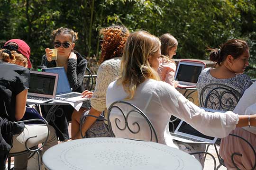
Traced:
<path fill-rule="evenodd" d="M 30 73 L 28 93 L 54 95 L 55 76 Z"/>

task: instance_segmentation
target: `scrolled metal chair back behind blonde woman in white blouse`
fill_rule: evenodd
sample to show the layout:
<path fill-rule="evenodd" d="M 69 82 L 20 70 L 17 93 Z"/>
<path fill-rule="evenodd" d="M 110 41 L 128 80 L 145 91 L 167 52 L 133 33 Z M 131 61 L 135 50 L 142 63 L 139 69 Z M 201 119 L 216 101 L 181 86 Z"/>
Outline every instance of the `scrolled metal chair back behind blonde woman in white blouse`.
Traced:
<path fill-rule="evenodd" d="M 108 111 L 108 123 L 112 137 L 158 143 L 155 127 L 151 121 L 143 111 L 129 102 L 113 102 Z"/>

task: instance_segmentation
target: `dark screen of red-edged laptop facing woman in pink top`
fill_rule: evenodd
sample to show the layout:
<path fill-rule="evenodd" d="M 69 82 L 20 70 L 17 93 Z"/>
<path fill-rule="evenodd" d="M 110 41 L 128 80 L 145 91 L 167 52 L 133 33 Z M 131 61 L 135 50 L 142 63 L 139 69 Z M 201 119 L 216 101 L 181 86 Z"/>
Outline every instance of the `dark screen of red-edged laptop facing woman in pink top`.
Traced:
<path fill-rule="evenodd" d="M 181 63 L 177 71 L 175 80 L 197 83 L 198 77 L 202 71 L 202 66 L 193 66 Z"/>

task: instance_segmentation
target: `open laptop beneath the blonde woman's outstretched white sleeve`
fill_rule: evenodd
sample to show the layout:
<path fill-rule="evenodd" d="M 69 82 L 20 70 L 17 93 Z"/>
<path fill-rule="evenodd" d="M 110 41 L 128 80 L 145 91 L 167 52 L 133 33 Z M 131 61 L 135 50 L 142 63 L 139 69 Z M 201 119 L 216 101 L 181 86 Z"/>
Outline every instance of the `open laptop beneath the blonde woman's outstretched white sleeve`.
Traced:
<path fill-rule="evenodd" d="M 205 111 L 215 112 L 219 110 L 212 110 L 203 108 Z M 218 137 L 211 137 L 203 135 L 201 132 L 194 129 L 192 126 L 181 120 L 174 133 L 170 133 L 174 140 L 185 143 L 197 143 L 197 144 L 215 144 Z"/>

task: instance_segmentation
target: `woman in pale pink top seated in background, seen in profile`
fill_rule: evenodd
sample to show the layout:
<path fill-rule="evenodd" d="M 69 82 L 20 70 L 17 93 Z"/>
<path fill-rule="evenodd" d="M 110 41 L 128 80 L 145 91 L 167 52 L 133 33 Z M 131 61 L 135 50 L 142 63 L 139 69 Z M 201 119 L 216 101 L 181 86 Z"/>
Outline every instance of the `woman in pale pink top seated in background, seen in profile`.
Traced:
<path fill-rule="evenodd" d="M 163 34 L 159 37 L 159 40 L 161 42 L 162 59 L 157 70 L 158 75 L 162 81 L 177 87 L 178 82 L 174 80 L 176 63 L 172 58 L 176 55 L 178 41 L 171 34 Z"/>

